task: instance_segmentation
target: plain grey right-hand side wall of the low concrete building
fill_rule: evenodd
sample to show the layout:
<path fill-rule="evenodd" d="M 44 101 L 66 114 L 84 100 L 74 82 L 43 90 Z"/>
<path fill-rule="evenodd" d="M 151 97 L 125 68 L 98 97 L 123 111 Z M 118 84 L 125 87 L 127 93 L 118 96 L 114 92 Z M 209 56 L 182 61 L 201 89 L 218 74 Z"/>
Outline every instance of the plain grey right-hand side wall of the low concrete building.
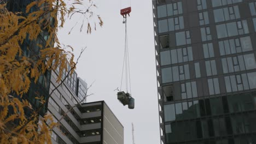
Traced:
<path fill-rule="evenodd" d="M 103 143 L 124 144 L 124 127 L 105 103 L 103 108 Z"/>

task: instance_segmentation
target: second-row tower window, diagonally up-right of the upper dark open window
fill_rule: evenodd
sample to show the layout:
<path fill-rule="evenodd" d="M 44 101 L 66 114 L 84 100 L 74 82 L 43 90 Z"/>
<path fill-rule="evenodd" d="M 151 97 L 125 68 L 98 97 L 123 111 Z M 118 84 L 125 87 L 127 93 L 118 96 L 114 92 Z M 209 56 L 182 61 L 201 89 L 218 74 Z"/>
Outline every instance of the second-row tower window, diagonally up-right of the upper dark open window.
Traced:
<path fill-rule="evenodd" d="M 176 31 L 184 28 L 183 16 L 168 19 L 169 31 Z"/>

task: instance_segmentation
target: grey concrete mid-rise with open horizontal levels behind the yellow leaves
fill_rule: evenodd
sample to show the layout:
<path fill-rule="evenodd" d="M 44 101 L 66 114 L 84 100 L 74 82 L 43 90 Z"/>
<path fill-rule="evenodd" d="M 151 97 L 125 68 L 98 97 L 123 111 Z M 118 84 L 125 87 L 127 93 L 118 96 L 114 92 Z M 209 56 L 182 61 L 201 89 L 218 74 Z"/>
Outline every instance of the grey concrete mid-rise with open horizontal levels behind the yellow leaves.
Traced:
<path fill-rule="evenodd" d="M 58 85 L 56 77 L 57 73 L 52 71 L 50 93 Z M 53 130 L 53 143 L 123 144 L 124 127 L 107 104 L 104 101 L 82 103 L 86 86 L 74 72 L 51 95 L 48 112 L 55 122 L 60 121 L 60 129 Z"/>

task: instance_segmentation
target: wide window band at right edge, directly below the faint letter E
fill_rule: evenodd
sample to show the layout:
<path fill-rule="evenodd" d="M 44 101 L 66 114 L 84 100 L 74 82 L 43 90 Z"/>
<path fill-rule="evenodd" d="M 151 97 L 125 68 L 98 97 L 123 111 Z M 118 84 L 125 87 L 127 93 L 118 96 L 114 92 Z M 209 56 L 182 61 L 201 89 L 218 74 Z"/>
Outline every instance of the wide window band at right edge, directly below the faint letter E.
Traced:
<path fill-rule="evenodd" d="M 240 55 L 235 57 L 222 58 L 223 73 L 233 73 L 236 71 L 255 69 L 254 54 Z"/>

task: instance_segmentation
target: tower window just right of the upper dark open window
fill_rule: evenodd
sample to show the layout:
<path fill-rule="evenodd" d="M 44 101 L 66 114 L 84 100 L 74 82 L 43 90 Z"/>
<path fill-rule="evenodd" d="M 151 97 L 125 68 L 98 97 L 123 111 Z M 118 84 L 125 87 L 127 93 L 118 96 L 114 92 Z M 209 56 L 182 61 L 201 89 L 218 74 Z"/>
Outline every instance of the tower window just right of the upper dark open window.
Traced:
<path fill-rule="evenodd" d="M 177 32 L 176 33 L 176 45 L 186 45 L 191 44 L 191 38 L 189 31 Z"/>

